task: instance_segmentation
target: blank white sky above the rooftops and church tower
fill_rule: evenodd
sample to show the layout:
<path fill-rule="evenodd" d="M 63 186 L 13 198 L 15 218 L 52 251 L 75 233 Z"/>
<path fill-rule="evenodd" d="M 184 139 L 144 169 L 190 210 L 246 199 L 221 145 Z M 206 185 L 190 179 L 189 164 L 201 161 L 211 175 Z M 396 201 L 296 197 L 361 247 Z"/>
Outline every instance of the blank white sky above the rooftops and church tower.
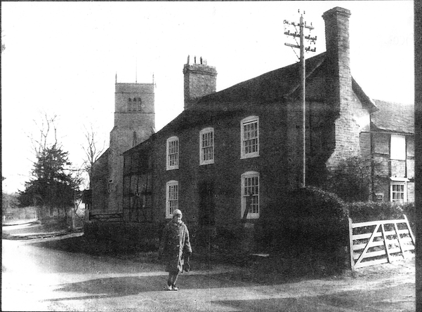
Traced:
<path fill-rule="evenodd" d="M 152 83 L 155 128 L 183 111 L 183 65 L 197 55 L 216 67 L 217 91 L 298 62 L 284 20 L 315 28 L 348 8 L 352 76 L 369 97 L 414 102 L 412 1 L 2 2 L 1 156 L 3 191 L 23 190 L 35 161 L 29 137 L 43 114 L 57 116 L 58 142 L 75 168 L 93 127 L 108 147 L 114 82 Z M 313 46 L 312 46 L 313 47 Z M 397 106 L 400 109 L 400 105 Z"/>

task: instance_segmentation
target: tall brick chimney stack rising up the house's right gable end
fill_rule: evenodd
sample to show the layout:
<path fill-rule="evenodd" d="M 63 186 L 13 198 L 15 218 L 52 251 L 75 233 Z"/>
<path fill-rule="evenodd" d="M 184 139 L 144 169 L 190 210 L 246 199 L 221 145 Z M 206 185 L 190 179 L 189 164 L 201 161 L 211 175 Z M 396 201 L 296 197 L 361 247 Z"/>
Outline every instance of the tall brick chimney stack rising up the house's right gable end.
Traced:
<path fill-rule="evenodd" d="M 326 90 L 327 102 L 336 116 L 334 153 L 327 167 L 336 167 L 338 162 L 360 151 L 359 126 L 353 118 L 352 75 L 350 74 L 350 11 L 332 8 L 322 15 L 325 21 Z"/>

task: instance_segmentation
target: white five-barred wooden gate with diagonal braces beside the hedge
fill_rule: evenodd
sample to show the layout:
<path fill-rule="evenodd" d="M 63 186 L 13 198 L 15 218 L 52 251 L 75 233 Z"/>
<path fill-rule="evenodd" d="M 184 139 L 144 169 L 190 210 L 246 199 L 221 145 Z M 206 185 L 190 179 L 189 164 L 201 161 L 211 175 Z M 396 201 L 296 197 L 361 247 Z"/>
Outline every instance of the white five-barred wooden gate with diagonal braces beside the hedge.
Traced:
<path fill-rule="evenodd" d="M 390 263 L 415 249 L 415 238 L 404 219 L 352 223 L 349 218 L 352 269 Z"/>

